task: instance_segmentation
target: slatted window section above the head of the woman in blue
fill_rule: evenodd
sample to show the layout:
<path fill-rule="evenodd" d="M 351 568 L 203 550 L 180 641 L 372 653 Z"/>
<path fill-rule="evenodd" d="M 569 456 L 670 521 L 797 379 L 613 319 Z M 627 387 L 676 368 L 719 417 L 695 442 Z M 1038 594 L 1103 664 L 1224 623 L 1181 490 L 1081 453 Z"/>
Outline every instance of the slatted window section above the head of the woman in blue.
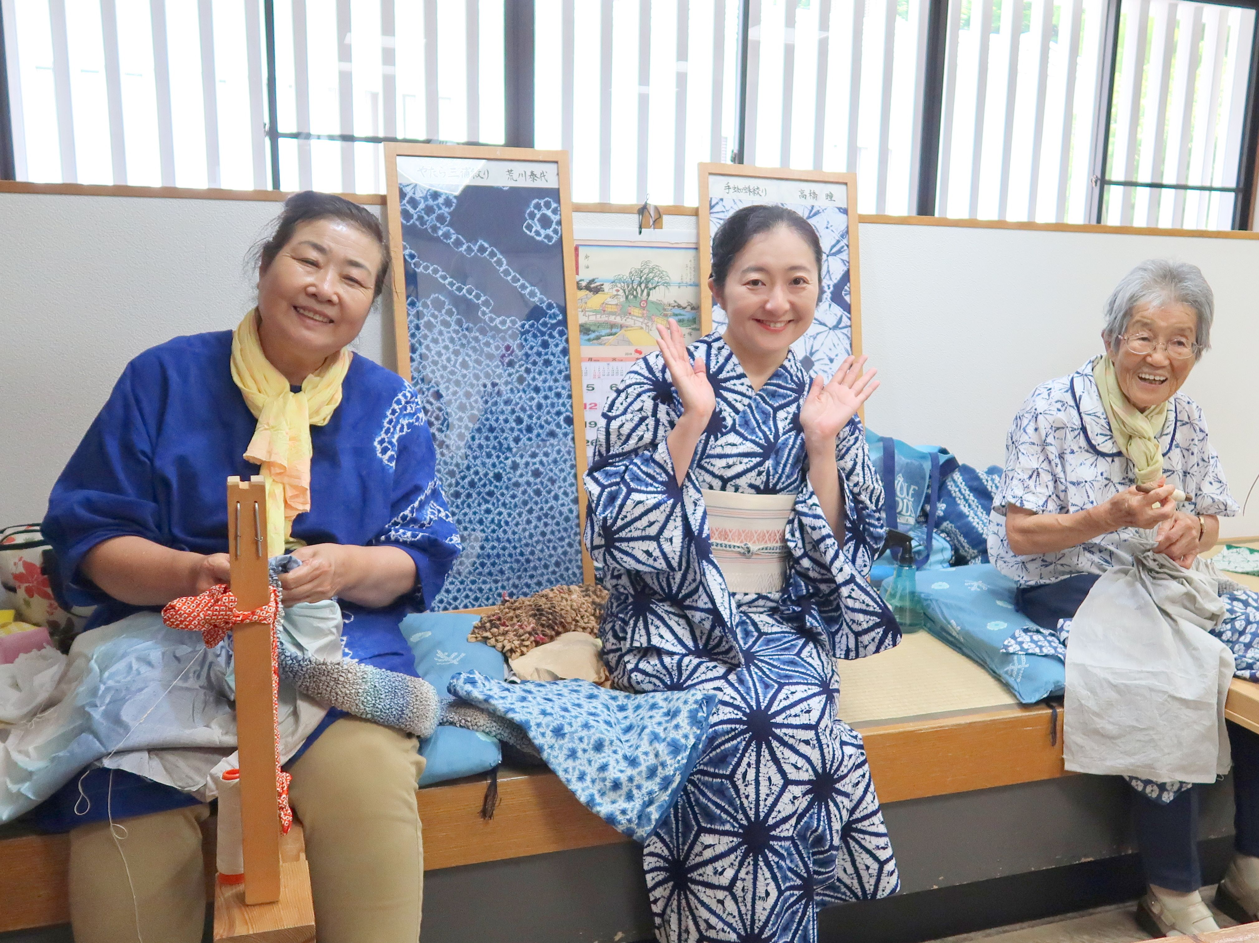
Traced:
<path fill-rule="evenodd" d="M 502 144 L 502 5 L 276 3 L 281 189 L 381 193 L 381 138 Z"/>

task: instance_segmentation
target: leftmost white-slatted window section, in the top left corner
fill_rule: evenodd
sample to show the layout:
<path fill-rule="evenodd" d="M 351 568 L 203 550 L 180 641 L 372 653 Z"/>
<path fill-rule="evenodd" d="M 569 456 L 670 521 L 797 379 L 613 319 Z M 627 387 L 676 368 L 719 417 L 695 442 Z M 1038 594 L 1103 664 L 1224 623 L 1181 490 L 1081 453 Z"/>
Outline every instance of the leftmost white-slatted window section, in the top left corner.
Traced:
<path fill-rule="evenodd" d="M 267 186 L 259 0 L 6 0 L 20 180 Z"/>

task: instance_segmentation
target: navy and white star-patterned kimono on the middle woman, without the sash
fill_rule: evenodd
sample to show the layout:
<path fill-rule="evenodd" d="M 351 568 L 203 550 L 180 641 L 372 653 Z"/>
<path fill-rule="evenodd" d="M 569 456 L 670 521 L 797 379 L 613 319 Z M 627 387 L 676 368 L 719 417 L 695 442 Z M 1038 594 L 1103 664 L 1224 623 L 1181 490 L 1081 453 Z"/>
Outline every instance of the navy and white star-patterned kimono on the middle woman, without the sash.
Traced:
<path fill-rule="evenodd" d="M 681 404 L 658 353 L 613 395 L 585 477 L 616 684 L 718 699 L 699 762 L 643 850 L 656 932 L 674 943 L 815 940 L 818 906 L 899 888 L 861 738 L 836 716 L 832 661 L 900 641 L 864 575 L 883 541 L 883 487 L 854 419 L 837 446 L 841 545 L 806 477 L 808 374 L 796 356 L 754 392 L 719 335 L 689 351 L 706 364 L 716 409 L 684 483 L 666 442 Z M 704 488 L 797 496 L 783 592 L 729 592 Z"/>

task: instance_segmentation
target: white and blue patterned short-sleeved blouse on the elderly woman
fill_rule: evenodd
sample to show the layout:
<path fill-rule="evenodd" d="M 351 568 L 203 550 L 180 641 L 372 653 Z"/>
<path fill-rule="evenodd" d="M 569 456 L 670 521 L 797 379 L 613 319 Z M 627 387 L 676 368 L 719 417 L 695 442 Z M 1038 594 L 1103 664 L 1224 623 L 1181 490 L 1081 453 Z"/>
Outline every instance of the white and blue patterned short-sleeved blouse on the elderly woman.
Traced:
<path fill-rule="evenodd" d="M 1042 383 L 1015 415 L 1006 437 L 1006 468 L 992 500 L 988 555 L 1021 585 L 1054 583 L 1075 573 L 1105 573 L 1132 564 L 1126 549 L 1134 528 L 1123 528 L 1054 554 L 1019 556 L 1006 538 L 1006 505 L 1037 514 L 1074 514 L 1094 507 L 1136 483 L 1132 462 L 1119 452 L 1093 379 L 1093 363 Z M 1176 393 L 1160 442 L 1163 473 L 1188 496 L 1191 514 L 1231 517 L 1238 502 L 1224 480 L 1206 433 L 1202 409 Z"/>

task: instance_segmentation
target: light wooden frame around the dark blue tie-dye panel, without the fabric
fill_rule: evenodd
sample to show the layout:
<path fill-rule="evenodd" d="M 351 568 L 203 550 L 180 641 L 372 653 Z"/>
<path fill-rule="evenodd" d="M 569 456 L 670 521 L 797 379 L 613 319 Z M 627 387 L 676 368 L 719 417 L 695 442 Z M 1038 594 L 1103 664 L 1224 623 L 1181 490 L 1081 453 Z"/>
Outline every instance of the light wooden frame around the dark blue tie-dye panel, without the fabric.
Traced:
<path fill-rule="evenodd" d="M 480 147 L 472 145 L 385 144 L 385 218 L 389 225 L 390 280 L 394 306 L 394 369 L 407 381 L 410 375 L 410 335 L 407 315 L 407 268 L 403 257 L 402 200 L 398 194 L 398 157 L 456 157 L 554 164 L 559 185 L 560 246 L 564 263 L 564 315 L 568 325 L 569 390 L 573 400 L 573 448 L 577 457 L 577 522 L 582 546 L 582 582 L 594 582 L 594 563 L 580 535 L 585 529 L 585 437 L 582 432 L 582 332 L 577 320 L 577 258 L 573 252 L 573 199 L 568 151 L 539 151 L 531 147 Z M 490 607 L 483 607 L 488 611 Z M 475 609 L 473 609 L 475 611 Z"/>

